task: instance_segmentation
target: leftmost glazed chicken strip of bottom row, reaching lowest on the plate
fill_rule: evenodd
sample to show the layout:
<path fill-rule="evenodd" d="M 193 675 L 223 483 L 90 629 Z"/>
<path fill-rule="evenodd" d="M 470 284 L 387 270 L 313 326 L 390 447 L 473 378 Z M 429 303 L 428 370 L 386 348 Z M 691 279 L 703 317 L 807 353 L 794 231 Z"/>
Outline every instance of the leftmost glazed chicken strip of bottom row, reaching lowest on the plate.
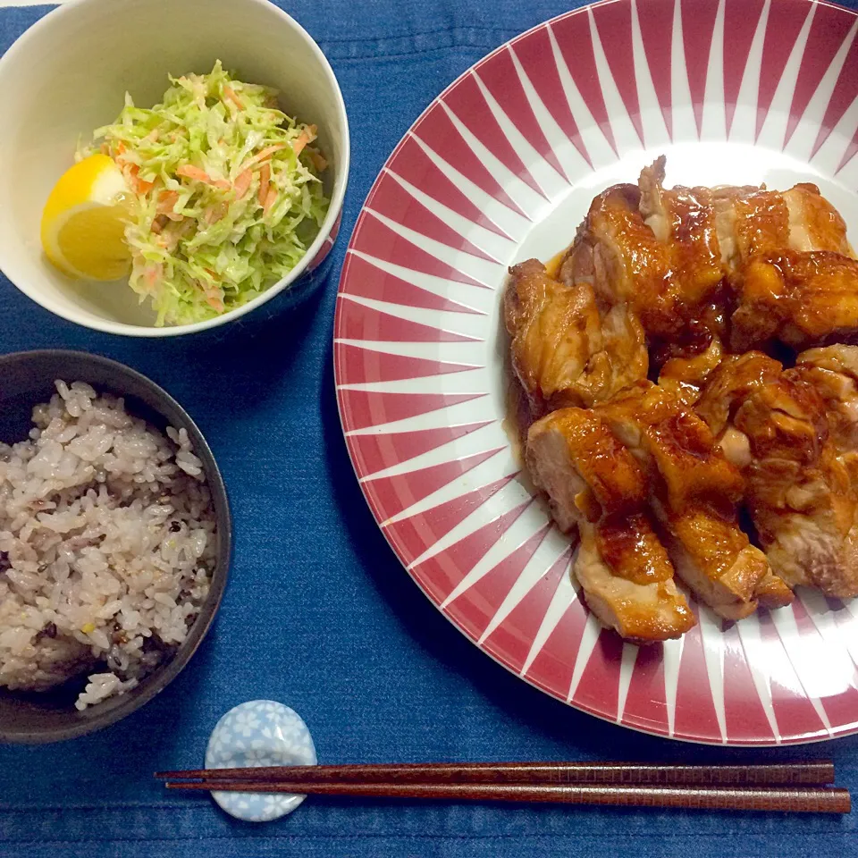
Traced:
<path fill-rule="evenodd" d="M 531 426 L 526 458 L 559 527 L 578 527 L 575 574 L 596 617 L 639 643 L 693 627 L 646 509 L 644 474 L 608 427 L 581 408 L 554 411 Z"/>

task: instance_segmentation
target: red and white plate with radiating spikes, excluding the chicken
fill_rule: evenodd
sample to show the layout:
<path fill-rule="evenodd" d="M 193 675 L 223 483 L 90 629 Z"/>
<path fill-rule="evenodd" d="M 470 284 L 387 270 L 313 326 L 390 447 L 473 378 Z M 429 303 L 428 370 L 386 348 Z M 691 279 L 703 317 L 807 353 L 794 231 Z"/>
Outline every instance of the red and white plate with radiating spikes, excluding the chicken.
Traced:
<path fill-rule="evenodd" d="M 660 736 L 858 731 L 858 602 L 801 593 L 682 640 L 601 629 L 505 431 L 507 266 L 548 259 L 591 198 L 665 153 L 668 182 L 814 181 L 858 240 L 855 14 L 807 0 L 610 0 L 501 46 L 396 147 L 342 272 L 334 362 L 366 500 L 409 574 L 484 652 Z"/>

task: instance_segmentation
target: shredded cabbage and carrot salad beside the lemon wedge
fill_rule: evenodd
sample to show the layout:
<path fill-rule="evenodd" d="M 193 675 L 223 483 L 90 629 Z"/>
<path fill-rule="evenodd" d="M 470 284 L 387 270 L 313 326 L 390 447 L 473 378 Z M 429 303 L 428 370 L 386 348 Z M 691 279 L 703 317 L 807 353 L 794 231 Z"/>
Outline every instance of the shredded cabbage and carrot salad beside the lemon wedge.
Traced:
<path fill-rule="evenodd" d="M 170 78 L 78 157 L 103 152 L 128 184 L 130 287 L 158 325 L 190 324 L 255 299 L 298 264 L 327 212 L 315 126 L 276 108 L 274 89 L 223 71 Z"/>

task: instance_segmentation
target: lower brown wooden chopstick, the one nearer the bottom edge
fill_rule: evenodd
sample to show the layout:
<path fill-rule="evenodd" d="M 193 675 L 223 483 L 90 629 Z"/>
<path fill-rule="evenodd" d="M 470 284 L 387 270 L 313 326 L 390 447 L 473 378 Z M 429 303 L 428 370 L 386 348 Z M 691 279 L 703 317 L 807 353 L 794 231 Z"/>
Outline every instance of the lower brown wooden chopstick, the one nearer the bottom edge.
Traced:
<path fill-rule="evenodd" d="M 212 779 L 168 781 L 168 789 L 245 793 L 311 793 L 371 798 L 446 799 L 564 804 L 613 804 L 626 807 L 686 808 L 718 811 L 848 813 L 847 790 L 832 787 L 645 787 L 555 784 L 461 783 L 309 783 Z"/>

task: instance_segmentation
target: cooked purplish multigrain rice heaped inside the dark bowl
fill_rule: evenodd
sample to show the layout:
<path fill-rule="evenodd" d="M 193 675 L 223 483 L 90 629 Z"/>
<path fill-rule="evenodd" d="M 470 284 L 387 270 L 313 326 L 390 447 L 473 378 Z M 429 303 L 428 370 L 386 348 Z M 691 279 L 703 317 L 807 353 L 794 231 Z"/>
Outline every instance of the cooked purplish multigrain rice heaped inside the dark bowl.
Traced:
<path fill-rule="evenodd" d="M 56 382 L 29 440 L 0 443 L 0 686 L 88 674 L 85 709 L 185 639 L 214 568 L 214 512 L 188 433 Z"/>

